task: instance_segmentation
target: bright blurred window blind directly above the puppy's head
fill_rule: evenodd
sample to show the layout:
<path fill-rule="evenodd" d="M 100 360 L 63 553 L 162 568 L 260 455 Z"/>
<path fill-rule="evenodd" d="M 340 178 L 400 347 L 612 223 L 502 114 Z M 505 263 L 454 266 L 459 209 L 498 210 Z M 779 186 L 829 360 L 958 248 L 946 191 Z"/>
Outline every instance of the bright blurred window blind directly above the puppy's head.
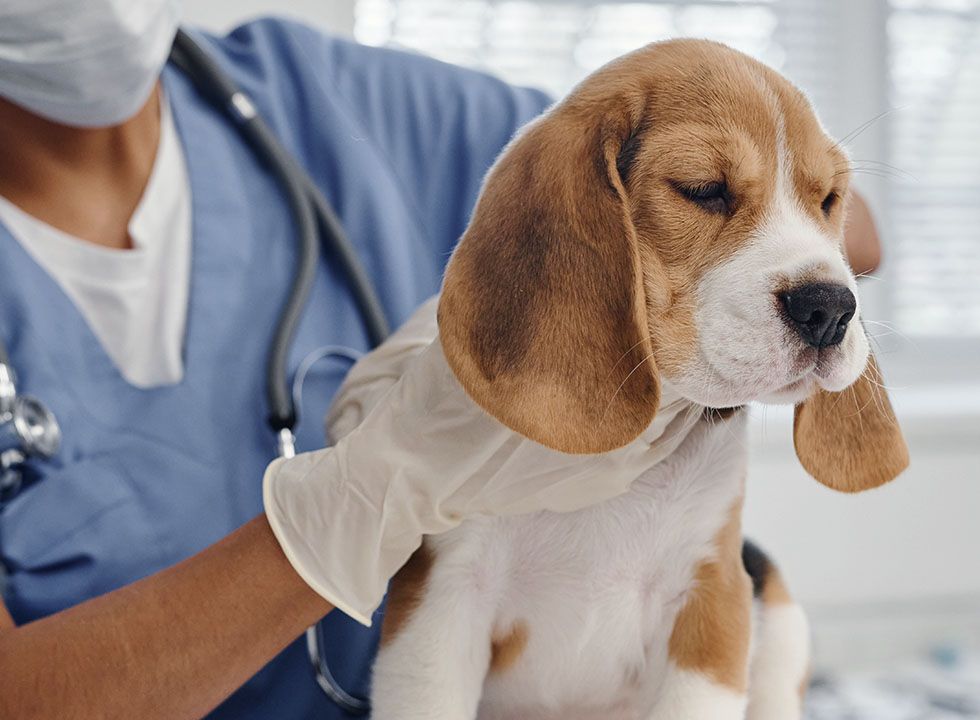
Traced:
<path fill-rule="evenodd" d="M 813 0 L 358 0 L 355 36 L 492 72 L 558 96 L 604 63 L 656 40 L 718 40 L 819 94 L 825 78 Z"/>

